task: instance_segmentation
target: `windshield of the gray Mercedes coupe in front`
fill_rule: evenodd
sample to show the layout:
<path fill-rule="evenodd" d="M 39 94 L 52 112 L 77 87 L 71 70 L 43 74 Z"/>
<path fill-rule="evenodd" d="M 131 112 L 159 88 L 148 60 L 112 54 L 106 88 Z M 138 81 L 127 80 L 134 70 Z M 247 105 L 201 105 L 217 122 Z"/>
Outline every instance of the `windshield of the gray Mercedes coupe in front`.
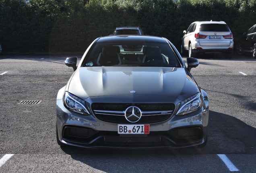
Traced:
<path fill-rule="evenodd" d="M 164 66 L 181 67 L 167 43 L 97 43 L 83 66 Z"/>

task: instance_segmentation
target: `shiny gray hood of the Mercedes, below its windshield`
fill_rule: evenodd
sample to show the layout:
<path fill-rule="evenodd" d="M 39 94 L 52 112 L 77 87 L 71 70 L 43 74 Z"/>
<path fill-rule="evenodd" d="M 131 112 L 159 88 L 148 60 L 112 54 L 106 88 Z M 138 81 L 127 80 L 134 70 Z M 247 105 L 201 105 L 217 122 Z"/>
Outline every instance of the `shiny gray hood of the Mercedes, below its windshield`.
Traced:
<path fill-rule="evenodd" d="M 184 68 L 140 66 L 81 67 L 70 78 L 67 89 L 81 99 L 157 96 L 184 100 L 199 92 L 196 82 L 186 74 Z"/>

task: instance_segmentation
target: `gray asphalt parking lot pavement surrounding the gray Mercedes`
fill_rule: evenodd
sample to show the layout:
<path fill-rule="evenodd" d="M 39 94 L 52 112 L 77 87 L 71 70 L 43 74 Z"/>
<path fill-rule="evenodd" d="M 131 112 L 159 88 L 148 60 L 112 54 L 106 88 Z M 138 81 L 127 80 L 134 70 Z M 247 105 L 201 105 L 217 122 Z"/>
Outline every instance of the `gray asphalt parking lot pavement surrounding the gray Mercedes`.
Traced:
<path fill-rule="evenodd" d="M 205 147 L 109 150 L 56 143 L 56 96 L 73 72 L 64 64 L 68 56 L 73 55 L 0 55 L 1 173 L 255 172 L 256 59 L 197 57 L 200 64 L 191 73 L 210 99 Z"/>

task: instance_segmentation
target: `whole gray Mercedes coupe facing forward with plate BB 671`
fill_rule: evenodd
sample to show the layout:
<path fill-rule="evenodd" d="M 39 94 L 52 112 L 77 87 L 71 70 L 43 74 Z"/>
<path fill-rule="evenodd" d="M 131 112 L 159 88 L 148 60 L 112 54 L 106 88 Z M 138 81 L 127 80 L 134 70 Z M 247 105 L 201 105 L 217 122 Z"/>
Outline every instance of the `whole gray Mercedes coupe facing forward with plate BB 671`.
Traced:
<path fill-rule="evenodd" d="M 207 141 L 209 101 L 173 44 L 155 36 L 95 39 L 58 92 L 59 145 L 182 148 Z"/>

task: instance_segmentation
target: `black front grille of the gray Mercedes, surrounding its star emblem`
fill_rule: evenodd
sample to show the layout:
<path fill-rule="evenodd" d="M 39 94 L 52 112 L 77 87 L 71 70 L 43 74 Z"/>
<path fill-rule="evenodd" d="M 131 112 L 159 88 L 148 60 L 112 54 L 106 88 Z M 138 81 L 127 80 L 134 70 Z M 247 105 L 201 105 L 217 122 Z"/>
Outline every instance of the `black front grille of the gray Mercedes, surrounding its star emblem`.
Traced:
<path fill-rule="evenodd" d="M 101 121 L 116 124 L 131 124 L 125 118 L 125 110 L 130 106 L 138 107 L 142 117 L 137 124 L 159 123 L 171 117 L 175 109 L 172 103 L 93 103 L 92 110 Z"/>

